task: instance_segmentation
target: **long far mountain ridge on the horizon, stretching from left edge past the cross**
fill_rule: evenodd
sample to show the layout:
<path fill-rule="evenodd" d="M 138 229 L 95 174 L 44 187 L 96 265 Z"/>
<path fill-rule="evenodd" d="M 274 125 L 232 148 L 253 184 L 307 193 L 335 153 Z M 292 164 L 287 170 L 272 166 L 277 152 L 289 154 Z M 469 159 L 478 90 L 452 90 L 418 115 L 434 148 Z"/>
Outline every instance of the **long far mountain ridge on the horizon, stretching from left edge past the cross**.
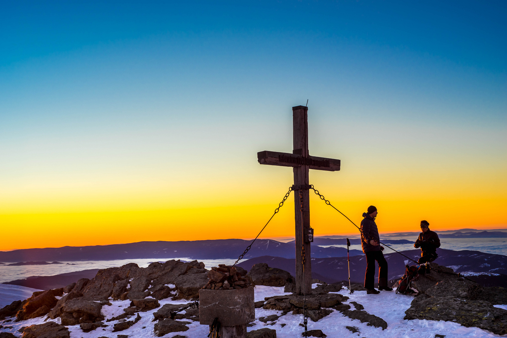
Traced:
<path fill-rule="evenodd" d="M 113 260 L 136 258 L 183 258 L 192 259 L 235 259 L 243 253 L 251 243 L 242 239 L 223 239 L 206 241 L 176 242 L 137 242 L 128 244 L 95 245 L 95 246 L 64 246 L 61 248 L 21 249 L 0 251 L 0 261 L 79 261 L 79 260 Z M 244 258 L 258 256 L 294 257 L 296 245 L 282 243 L 270 239 L 259 239 L 245 254 Z M 360 250 L 350 250 L 350 255 L 362 254 Z M 312 257 L 344 257 L 347 249 L 341 247 L 322 248 L 313 245 Z"/>

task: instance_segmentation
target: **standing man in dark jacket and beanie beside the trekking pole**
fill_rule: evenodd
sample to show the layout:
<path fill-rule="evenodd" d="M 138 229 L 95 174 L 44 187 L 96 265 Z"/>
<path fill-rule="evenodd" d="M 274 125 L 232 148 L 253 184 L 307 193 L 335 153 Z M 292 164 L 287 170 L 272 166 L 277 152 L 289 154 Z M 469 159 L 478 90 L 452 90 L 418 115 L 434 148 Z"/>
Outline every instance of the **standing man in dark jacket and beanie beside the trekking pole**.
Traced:
<path fill-rule="evenodd" d="M 365 288 L 368 294 L 380 293 L 374 288 L 375 261 L 379 265 L 378 289 L 392 291 L 392 288 L 387 286 L 387 260 L 385 260 L 382 253 L 384 248 L 380 245 L 379 231 L 375 223 L 377 213 L 377 208 L 370 205 L 368 211 L 363 213 L 365 218 L 361 220 L 361 247 L 366 254 Z"/>

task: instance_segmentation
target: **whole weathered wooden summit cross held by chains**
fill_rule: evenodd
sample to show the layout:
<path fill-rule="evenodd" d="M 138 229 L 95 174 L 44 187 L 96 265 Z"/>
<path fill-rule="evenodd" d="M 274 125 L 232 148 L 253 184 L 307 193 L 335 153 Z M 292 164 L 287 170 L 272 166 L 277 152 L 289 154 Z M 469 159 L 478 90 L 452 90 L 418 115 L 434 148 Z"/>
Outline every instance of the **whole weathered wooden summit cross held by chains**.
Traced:
<path fill-rule="evenodd" d="M 277 152 L 259 152 L 257 159 L 260 164 L 293 167 L 294 171 L 294 207 L 296 219 L 296 293 L 310 294 L 312 291 L 312 266 L 310 242 L 313 242 L 313 229 L 310 229 L 310 185 L 308 183 L 308 169 L 340 170 L 340 160 L 314 157 L 308 154 L 308 107 L 298 105 L 292 107 L 293 114 L 293 144 L 292 154 Z M 303 197 L 303 215 L 299 190 Z M 303 217 L 302 217 L 303 216 Z M 305 235 L 303 239 L 303 234 Z M 311 236 L 309 236 L 311 235 Z M 303 290 L 303 265 L 301 247 L 305 249 L 304 278 L 306 288 Z"/>

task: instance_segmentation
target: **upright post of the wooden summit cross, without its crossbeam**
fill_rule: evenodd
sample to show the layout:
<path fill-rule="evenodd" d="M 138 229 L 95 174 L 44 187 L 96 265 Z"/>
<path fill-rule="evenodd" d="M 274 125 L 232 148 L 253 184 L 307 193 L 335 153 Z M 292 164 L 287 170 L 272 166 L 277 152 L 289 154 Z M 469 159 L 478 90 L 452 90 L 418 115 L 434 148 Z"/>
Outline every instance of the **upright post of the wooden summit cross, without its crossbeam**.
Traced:
<path fill-rule="evenodd" d="M 308 158 L 308 107 L 296 106 L 292 108 L 293 116 L 293 154 Z M 294 185 L 300 189 L 309 184 L 309 166 L 303 164 L 294 167 Z M 296 221 L 296 293 L 312 293 L 312 265 L 310 243 L 304 241 L 304 230 L 310 229 L 310 191 L 301 189 L 303 198 L 303 212 L 299 190 L 294 193 L 294 208 Z M 303 269 L 302 247 L 305 250 L 305 264 Z M 304 271 L 304 272 L 303 272 Z M 304 276 L 303 276 L 304 273 Z M 305 285 L 303 285 L 303 279 Z"/>

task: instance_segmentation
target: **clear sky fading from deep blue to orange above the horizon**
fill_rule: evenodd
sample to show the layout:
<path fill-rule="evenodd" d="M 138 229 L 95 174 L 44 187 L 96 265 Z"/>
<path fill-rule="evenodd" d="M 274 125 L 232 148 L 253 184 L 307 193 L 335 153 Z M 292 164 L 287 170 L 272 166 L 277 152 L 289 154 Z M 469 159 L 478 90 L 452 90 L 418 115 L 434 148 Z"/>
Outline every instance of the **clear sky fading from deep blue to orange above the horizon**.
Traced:
<path fill-rule="evenodd" d="M 252 238 L 310 183 L 382 232 L 507 227 L 507 3 L 4 2 L 0 250 Z M 355 233 L 310 197 L 315 236 Z M 288 200 L 261 237 L 294 236 Z"/>

